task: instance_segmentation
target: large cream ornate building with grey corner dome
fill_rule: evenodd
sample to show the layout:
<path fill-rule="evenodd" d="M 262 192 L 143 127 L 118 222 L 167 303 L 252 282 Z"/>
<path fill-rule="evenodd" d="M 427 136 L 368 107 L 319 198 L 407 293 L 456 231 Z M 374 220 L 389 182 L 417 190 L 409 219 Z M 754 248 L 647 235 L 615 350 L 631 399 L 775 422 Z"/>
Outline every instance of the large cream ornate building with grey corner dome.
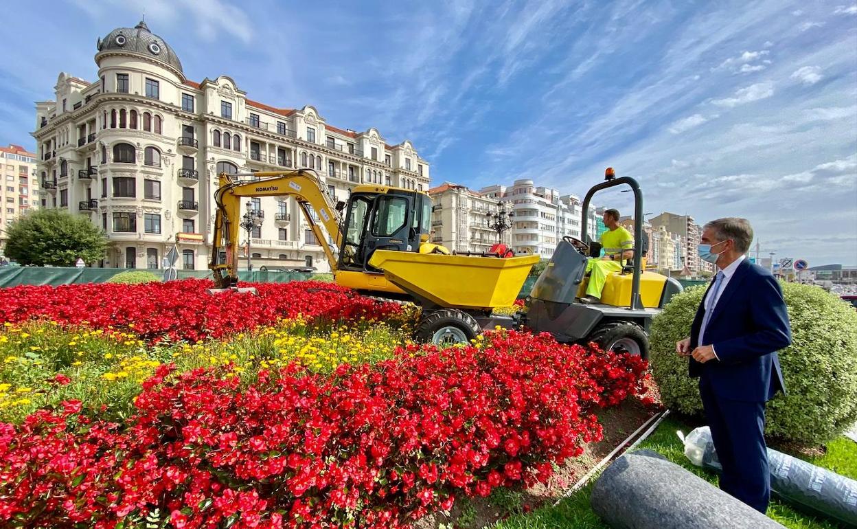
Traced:
<path fill-rule="evenodd" d="M 144 22 L 99 39 L 98 81 L 60 74 L 55 99 L 36 105 L 37 168 L 45 207 L 88 215 L 111 240 L 117 268 L 159 268 L 176 246 L 178 268 L 205 269 L 221 172 L 318 172 L 334 201 L 361 183 L 428 189 L 429 165 L 411 145 L 374 128 L 327 123 L 315 107 L 284 109 L 247 97 L 227 75 L 185 78 L 176 52 Z M 255 268 L 327 271 L 294 199 L 252 199 L 267 212 L 243 237 Z"/>

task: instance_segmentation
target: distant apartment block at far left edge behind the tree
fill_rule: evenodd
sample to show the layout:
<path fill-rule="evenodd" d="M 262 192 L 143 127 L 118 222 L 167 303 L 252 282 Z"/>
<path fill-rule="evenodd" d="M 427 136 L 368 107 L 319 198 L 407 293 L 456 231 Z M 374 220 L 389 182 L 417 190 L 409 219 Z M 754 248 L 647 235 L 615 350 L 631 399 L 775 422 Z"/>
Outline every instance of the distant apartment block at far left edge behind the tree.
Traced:
<path fill-rule="evenodd" d="M 6 247 L 6 228 L 39 205 L 36 154 L 20 145 L 0 147 L 3 167 L 3 209 L 0 210 L 0 252 Z"/>

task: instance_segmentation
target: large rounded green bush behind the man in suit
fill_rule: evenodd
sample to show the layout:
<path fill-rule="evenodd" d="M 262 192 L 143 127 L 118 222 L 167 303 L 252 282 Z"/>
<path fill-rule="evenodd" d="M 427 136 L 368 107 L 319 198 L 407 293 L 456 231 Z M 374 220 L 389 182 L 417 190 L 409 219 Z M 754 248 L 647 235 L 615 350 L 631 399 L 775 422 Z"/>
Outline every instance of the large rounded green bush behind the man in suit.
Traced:
<path fill-rule="evenodd" d="M 817 286 L 783 283 L 794 343 L 779 352 L 788 395 L 768 403 L 766 433 L 795 442 L 829 441 L 857 420 L 857 311 Z M 650 362 L 665 406 L 702 412 L 698 383 L 675 342 L 690 332 L 705 292 L 693 287 L 670 301 L 651 328 Z"/>

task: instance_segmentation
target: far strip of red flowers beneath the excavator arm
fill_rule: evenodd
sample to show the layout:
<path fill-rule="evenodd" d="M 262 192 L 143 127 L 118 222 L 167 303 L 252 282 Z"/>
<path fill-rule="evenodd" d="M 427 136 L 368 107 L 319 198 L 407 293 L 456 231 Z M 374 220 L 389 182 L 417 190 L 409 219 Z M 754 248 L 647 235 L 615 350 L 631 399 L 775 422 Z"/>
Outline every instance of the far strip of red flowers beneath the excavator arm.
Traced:
<path fill-rule="evenodd" d="M 332 283 L 259 284 L 255 285 L 259 296 L 207 294 L 205 290 L 212 286 L 207 280 L 15 286 L 0 289 L 0 322 L 45 316 L 60 323 L 87 322 L 93 328 L 117 328 L 146 340 L 201 340 L 270 325 L 279 317 L 298 314 L 310 320 L 336 321 L 360 316 L 382 318 L 399 312 L 397 304 L 379 303 Z"/>

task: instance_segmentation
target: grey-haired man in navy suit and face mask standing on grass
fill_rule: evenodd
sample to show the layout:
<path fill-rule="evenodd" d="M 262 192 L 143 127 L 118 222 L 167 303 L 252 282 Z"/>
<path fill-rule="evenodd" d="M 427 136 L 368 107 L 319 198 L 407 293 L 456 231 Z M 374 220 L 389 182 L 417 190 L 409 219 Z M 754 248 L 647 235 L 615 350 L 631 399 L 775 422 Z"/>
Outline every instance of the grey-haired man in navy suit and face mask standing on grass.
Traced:
<path fill-rule="evenodd" d="M 774 277 L 746 260 L 752 227 L 746 219 L 704 226 L 699 256 L 717 266 L 693 319 L 690 338 L 675 351 L 690 356 L 717 457 L 720 488 L 764 513 L 770 500 L 764 404 L 786 391 L 776 352 L 792 343 L 786 304 Z"/>

